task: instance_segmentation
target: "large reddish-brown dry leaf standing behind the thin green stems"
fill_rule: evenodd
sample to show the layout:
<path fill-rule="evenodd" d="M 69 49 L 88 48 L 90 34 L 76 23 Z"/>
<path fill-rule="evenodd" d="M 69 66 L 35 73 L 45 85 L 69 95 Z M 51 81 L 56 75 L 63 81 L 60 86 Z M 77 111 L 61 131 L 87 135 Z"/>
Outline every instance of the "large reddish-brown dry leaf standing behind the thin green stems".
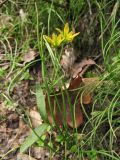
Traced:
<path fill-rule="evenodd" d="M 83 115 L 82 115 L 82 111 L 81 111 L 81 106 L 79 103 L 79 99 L 77 100 L 77 102 L 75 102 L 75 96 L 71 93 L 69 93 L 70 96 L 70 100 L 71 100 L 71 106 L 75 106 L 75 126 L 73 124 L 73 120 L 71 117 L 71 110 L 70 110 L 70 106 L 68 103 L 68 99 L 65 98 L 65 107 L 66 107 L 66 120 L 67 120 L 67 124 L 74 128 L 74 127 L 79 127 L 82 123 L 83 123 Z M 64 97 L 67 97 L 67 95 L 64 93 Z M 57 99 L 57 100 L 56 100 Z M 57 105 L 56 101 L 58 102 L 59 105 Z M 56 98 L 54 96 L 50 97 L 50 102 L 51 102 L 51 109 L 53 111 L 53 115 L 54 115 L 54 120 L 55 122 L 59 125 L 62 126 L 63 125 L 63 121 L 64 121 L 64 104 L 63 104 L 63 100 L 62 100 L 62 95 L 57 95 Z M 59 107 L 61 109 L 61 111 L 59 110 Z M 51 124 L 53 124 L 53 116 L 50 112 L 50 106 L 48 104 L 48 100 L 46 98 L 46 110 L 47 110 L 47 114 L 48 114 L 48 120 Z"/>

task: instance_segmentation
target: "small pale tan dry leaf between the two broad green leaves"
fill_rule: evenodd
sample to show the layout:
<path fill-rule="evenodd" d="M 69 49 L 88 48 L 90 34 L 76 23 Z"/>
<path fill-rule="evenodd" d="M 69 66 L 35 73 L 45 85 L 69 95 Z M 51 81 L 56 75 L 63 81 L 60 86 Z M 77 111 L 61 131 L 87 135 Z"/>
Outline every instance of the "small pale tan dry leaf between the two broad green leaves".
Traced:
<path fill-rule="evenodd" d="M 34 128 L 42 124 L 42 119 L 41 119 L 39 112 L 35 110 L 30 110 L 30 118 L 31 118 L 32 125 Z"/>

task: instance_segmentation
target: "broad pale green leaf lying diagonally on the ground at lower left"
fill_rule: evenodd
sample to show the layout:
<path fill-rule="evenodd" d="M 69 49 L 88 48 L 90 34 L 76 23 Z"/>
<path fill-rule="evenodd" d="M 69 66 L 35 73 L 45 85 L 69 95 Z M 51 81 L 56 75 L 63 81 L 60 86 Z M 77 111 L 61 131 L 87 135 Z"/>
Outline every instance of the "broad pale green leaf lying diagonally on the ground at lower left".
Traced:
<path fill-rule="evenodd" d="M 32 144 L 34 144 L 45 131 L 47 131 L 49 124 L 43 123 L 34 129 L 34 132 L 26 138 L 20 147 L 20 152 L 25 152 Z"/>

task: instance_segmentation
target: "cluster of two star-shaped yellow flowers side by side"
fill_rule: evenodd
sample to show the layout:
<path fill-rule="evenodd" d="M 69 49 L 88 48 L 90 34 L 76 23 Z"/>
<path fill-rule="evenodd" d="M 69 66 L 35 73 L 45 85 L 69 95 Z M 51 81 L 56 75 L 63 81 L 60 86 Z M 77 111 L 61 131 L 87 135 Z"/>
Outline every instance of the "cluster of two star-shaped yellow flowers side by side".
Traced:
<path fill-rule="evenodd" d="M 56 28 L 56 30 L 59 32 L 58 35 L 53 33 L 52 37 L 45 36 L 45 39 L 54 47 L 60 46 L 63 41 L 69 43 L 80 34 L 80 32 L 74 34 L 73 31 L 69 31 L 68 23 L 65 24 L 63 31 L 59 28 Z"/>

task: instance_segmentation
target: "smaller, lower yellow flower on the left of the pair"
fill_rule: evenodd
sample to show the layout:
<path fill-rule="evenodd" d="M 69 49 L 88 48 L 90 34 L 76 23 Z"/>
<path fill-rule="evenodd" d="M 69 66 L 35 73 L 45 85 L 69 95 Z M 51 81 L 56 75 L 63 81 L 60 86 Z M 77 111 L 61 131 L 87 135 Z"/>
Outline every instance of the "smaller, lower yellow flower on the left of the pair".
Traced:
<path fill-rule="evenodd" d="M 55 33 L 52 34 L 52 37 L 45 36 L 46 40 L 54 47 L 60 46 L 63 41 L 62 35 L 56 35 Z"/>

